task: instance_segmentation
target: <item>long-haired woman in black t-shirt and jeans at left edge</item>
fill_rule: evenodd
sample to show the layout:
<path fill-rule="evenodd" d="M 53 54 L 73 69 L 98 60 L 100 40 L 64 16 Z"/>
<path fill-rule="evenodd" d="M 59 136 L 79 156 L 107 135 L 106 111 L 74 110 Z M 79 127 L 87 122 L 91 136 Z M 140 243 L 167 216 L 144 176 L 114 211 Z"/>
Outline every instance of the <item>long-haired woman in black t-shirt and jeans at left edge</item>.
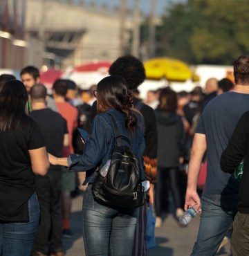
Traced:
<path fill-rule="evenodd" d="M 26 113 L 24 84 L 9 80 L 0 92 L 0 255 L 30 255 L 39 223 L 34 174 L 45 175 L 46 147 Z"/>

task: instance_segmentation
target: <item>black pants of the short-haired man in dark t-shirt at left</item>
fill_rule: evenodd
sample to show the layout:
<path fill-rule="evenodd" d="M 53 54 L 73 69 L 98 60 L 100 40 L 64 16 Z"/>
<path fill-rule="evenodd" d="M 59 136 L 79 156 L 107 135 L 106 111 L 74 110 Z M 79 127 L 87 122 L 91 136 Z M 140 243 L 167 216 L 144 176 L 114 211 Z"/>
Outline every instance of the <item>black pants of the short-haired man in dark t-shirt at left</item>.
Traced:
<path fill-rule="evenodd" d="M 52 253 L 62 250 L 62 203 L 60 196 L 61 168 L 50 167 L 46 176 L 35 176 L 35 190 L 41 219 L 33 244 L 33 253 Z"/>

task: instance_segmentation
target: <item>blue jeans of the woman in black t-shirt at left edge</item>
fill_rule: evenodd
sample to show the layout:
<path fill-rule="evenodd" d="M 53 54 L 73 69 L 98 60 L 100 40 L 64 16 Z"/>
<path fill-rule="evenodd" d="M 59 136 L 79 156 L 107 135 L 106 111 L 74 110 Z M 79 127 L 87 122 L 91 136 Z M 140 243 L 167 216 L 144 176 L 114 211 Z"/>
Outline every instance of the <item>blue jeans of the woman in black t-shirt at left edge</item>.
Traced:
<path fill-rule="evenodd" d="M 34 193 L 28 200 L 29 221 L 0 222 L 0 255 L 29 256 L 39 223 L 39 203 Z"/>

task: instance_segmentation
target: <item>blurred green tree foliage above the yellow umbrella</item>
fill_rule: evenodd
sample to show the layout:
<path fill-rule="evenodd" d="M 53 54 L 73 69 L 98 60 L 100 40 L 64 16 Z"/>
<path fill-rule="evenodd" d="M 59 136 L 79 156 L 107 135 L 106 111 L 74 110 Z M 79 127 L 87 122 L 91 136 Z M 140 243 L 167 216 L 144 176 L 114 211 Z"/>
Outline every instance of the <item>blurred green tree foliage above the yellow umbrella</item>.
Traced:
<path fill-rule="evenodd" d="M 170 3 L 156 29 L 156 55 L 191 64 L 232 64 L 249 51 L 249 0 Z"/>

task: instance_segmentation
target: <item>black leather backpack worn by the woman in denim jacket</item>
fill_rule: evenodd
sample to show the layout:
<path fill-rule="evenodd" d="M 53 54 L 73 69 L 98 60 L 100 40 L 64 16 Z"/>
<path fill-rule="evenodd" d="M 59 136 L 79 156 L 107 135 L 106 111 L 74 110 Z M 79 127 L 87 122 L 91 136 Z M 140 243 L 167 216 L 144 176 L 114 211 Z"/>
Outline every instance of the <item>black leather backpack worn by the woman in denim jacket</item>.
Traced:
<path fill-rule="evenodd" d="M 119 135 L 118 125 L 109 114 L 116 132 L 115 145 L 107 176 L 98 172 L 92 186 L 93 198 L 99 203 L 122 208 L 137 208 L 149 202 L 140 181 L 138 159 L 131 147 L 122 145 L 129 138 Z"/>

